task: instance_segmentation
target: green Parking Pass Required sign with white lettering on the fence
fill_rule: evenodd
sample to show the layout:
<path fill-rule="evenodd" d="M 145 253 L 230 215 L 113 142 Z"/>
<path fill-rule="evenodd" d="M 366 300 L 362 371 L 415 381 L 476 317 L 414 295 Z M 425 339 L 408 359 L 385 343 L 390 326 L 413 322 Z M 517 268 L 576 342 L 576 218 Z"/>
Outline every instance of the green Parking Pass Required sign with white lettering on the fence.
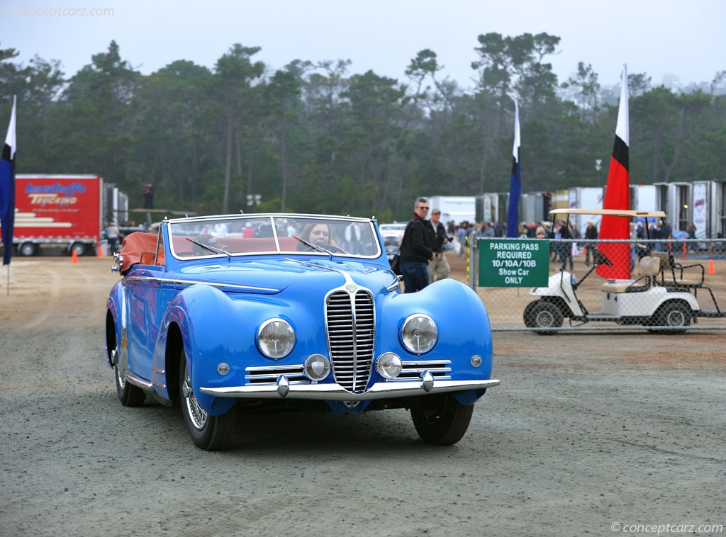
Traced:
<path fill-rule="evenodd" d="M 479 239 L 479 287 L 544 287 L 550 241 Z"/>

